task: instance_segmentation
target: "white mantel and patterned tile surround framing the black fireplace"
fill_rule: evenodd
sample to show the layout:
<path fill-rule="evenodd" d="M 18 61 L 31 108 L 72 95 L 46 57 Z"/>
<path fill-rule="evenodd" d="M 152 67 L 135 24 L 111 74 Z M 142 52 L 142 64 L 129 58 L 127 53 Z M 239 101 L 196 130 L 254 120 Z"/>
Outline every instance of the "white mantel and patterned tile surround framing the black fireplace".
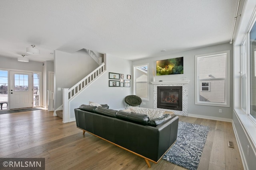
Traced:
<path fill-rule="evenodd" d="M 188 116 L 188 82 L 190 82 L 190 80 L 151 82 L 153 84 L 153 108 L 164 111 L 173 111 L 176 115 Z M 158 86 L 182 86 L 182 111 L 157 108 Z"/>

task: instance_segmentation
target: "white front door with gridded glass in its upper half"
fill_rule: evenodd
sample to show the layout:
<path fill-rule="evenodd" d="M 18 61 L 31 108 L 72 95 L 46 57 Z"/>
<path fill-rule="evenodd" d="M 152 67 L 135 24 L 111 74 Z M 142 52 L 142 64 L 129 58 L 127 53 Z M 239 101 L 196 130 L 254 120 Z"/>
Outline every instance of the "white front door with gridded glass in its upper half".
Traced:
<path fill-rule="evenodd" d="M 32 72 L 10 71 L 10 109 L 33 107 Z"/>

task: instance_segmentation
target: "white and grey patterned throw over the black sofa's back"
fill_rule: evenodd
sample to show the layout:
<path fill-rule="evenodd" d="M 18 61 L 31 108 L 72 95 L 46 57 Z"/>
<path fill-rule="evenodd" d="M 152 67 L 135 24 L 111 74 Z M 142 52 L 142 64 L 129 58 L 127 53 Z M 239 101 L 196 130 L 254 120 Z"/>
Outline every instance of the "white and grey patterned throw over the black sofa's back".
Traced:
<path fill-rule="evenodd" d="M 134 113 L 148 115 L 149 119 L 159 118 L 164 114 L 164 111 L 157 109 L 148 109 L 143 107 L 131 107 L 130 110 Z"/>

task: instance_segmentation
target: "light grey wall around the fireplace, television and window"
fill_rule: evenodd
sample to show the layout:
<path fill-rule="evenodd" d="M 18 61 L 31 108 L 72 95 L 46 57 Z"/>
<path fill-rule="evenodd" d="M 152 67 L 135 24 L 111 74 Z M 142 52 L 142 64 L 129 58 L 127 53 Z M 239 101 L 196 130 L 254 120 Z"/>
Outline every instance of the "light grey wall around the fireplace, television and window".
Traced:
<path fill-rule="evenodd" d="M 214 53 L 218 51 L 230 50 L 230 82 L 231 86 L 228 87 L 230 90 L 230 99 L 233 98 L 233 48 L 229 43 L 224 43 L 220 45 L 214 45 L 210 47 L 203 47 L 199 49 L 193 49 L 189 51 L 183 51 L 180 53 L 163 55 L 158 57 L 152 57 L 148 59 L 142 59 L 133 61 L 132 65 L 149 63 L 149 81 L 153 81 L 152 68 L 156 70 L 156 61 L 171 59 L 177 57 L 184 57 L 184 74 L 175 75 L 163 75 L 156 76 L 156 81 L 172 81 L 172 80 L 182 80 L 186 77 L 186 80 L 190 80 L 188 86 L 188 114 L 199 115 L 200 117 L 220 117 L 225 119 L 232 119 L 232 102 L 230 107 L 216 107 L 216 106 L 202 106 L 195 105 L 195 55 L 201 55 L 206 53 Z M 146 105 L 142 107 L 153 108 L 153 85 L 149 83 L 149 101 L 143 101 Z M 219 109 L 222 109 L 222 113 L 219 113 Z"/>

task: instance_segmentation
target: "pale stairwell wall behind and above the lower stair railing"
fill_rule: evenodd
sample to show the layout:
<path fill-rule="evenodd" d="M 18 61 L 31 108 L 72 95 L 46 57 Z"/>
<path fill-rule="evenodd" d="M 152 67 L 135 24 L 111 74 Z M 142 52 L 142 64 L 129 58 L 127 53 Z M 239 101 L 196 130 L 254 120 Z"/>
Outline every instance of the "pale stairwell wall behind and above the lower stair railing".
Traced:
<path fill-rule="evenodd" d="M 62 105 L 62 90 L 58 88 L 71 88 L 98 66 L 85 50 L 72 54 L 54 51 L 54 109 Z"/>

